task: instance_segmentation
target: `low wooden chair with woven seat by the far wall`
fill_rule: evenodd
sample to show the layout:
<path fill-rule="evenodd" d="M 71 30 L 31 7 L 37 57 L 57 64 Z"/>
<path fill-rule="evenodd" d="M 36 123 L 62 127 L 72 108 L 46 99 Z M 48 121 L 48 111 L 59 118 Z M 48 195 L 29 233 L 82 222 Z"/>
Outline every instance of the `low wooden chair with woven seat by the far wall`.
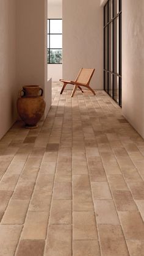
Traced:
<path fill-rule="evenodd" d="M 81 86 L 87 87 L 87 89 L 91 90 L 91 92 L 94 95 L 96 95 L 95 91 L 90 87 L 90 80 L 92 79 L 94 71 L 95 71 L 95 68 L 81 68 L 75 81 L 66 81 L 66 80 L 60 79 L 60 81 L 63 82 L 63 87 L 60 94 L 63 93 L 63 90 L 65 89 L 65 86 L 67 86 L 67 84 L 73 84 L 74 88 L 73 88 L 73 92 L 71 93 L 71 97 L 73 97 L 77 88 L 79 88 L 79 90 L 83 92 L 83 90 L 81 89 Z"/>

